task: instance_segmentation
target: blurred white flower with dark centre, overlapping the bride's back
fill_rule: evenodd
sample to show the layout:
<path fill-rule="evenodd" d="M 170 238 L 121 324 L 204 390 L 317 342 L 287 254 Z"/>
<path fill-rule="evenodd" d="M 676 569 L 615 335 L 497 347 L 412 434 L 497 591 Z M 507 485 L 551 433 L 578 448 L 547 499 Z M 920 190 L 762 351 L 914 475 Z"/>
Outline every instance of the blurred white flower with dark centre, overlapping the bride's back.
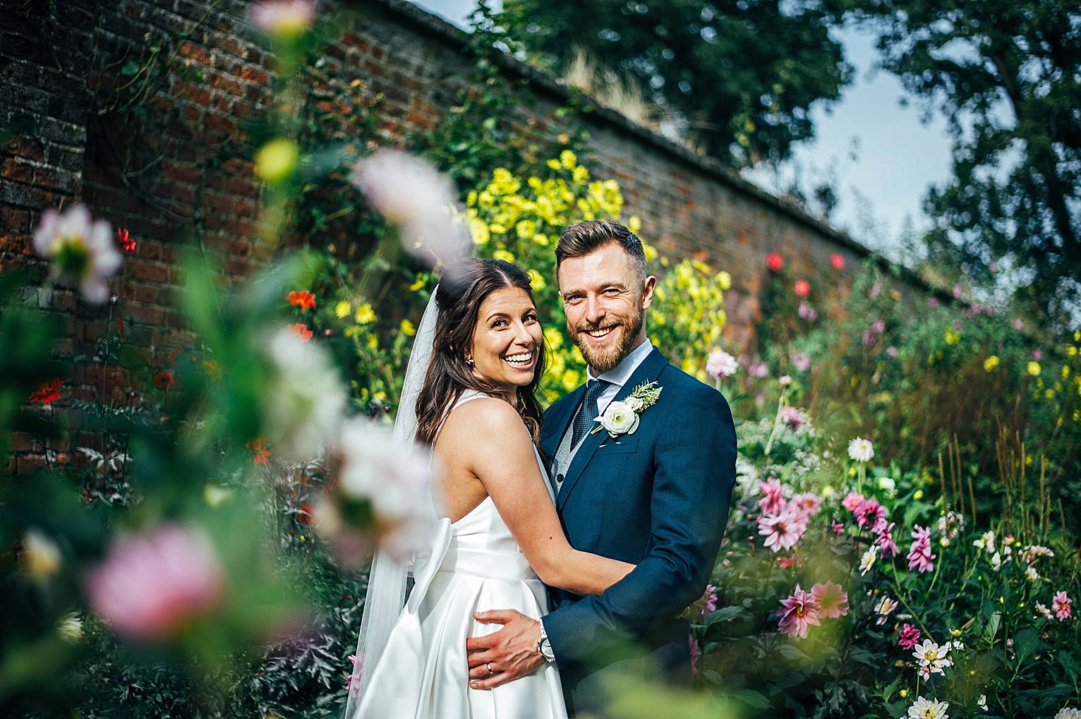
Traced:
<path fill-rule="evenodd" d="M 365 417 L 343 427 L 341 452 L 338 481 L 315 515 L 343 559 L 363 563 L 372 536 L 398 560 L 424 547 L 435 527 L 430 454 L 402 447 L 390 427 Z"/>

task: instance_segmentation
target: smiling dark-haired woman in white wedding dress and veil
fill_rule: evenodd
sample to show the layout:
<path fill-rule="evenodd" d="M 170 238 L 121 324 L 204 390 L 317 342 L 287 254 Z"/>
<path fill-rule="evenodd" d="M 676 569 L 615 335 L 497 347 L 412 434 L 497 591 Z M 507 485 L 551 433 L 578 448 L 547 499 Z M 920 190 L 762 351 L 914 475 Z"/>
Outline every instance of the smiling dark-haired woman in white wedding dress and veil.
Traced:
<path fill-rule="evenodd" d="M 565 719 L 555 664 L 482 691 L 469 688 L 466 657 L 468 637 L 499 628 L 475 612 L 539 618 L 545 584 L 599 595 L 633 569 L 578 551 L 563 534 L 536 450 L 544 349 L 520 267 L 467 259 L 446 272 L 417 332 L 395 427 L 431 448 L 445 517 L 433 515 L 436 538 L 414 559 L 408 602 L 408 568 L 383 554 L 373 562 L 346 719 Z"/>

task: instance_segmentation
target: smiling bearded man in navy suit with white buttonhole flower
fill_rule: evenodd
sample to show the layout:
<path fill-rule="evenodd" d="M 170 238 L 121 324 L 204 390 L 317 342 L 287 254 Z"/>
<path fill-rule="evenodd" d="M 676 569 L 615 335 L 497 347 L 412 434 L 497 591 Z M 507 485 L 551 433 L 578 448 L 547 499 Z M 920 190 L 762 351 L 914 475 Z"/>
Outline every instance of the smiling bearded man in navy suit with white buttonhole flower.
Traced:
<path fill-rule="evenodd" d="M 633 232 L 600 221 L 569 227 L 556 248 L 556 275 L 589 378 L 548 409 L 540 451 L 571 545 L 637 568 L 600 596 L 549 588 L 552 612 L 540 622 L 510 610 L 478 613 L 504 626 L 466 648 L 473 689 L 555 662 L 568 711 L 603 714 L 612 678 L 690 683 L 690 628 L 676 617 L 713 569 L 735 483 L 736 436 L 721 394 L 669 364 L 646 338 L 656 278 Z M 626 417 L 623 427 L 606 423 L 614 437 L 592 431 L 613 400 L 650 382 L 660 396 L 640 410 L 633 431 L 618 431 Z"/>

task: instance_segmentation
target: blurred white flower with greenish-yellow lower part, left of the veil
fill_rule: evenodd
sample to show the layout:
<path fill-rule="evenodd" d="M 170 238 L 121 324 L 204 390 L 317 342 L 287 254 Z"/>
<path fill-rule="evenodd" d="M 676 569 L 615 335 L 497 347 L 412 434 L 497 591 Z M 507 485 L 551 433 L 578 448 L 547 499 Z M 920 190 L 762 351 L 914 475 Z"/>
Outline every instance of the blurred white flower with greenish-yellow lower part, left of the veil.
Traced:
<path fill-rule="evenodd" d="M 280 330 L 267 346 L 272 376 L 263 392 L 266 438 L 275 452 L 303 462 L 317 456 L 342 424 L 346 392 L 321 347 L 292 330 Z"/>

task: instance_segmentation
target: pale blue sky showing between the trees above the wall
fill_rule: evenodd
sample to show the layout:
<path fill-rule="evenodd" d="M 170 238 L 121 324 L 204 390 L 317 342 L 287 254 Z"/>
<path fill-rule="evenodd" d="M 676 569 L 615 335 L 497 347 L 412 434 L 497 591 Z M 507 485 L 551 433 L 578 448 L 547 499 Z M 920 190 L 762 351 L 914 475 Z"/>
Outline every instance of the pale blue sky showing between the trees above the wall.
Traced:
<path fill-rule="evenodd" d="M 475 0 L 412 2 L 461 27 L 476 4 Z M 816 137 L 797 146 L 780 174 L 824 177 L 836 167 L 841 202 L 833 224 L 868 247 L 892 254 L 906 217 L 917 230 L 926 226 L 922 200 L 927 186 L 949 176 L 945 122 L 936 115 L 930 124 L 922 124 L 917 105 L 900 106 L 904 91 L 897 79 L 871 70 L 877 56 L 871 36 L 845 30 L 839 37 L 856 68 L 855 81 L 831 111 L 812 107 Z M 855 160 L 850 157 L 854 144 Z M 772 172 L 749 176 L 766 189 L 776 187 Z"/>

